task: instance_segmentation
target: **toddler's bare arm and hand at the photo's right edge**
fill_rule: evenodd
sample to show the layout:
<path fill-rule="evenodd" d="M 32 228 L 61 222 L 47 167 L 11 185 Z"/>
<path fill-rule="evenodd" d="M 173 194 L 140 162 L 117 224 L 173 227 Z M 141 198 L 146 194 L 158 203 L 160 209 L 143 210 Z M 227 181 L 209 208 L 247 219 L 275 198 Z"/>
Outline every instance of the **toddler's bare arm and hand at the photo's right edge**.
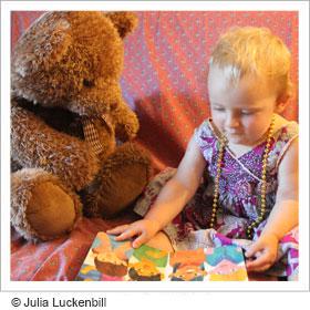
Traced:
<path fill-rule="evenodd" d="M 298 140 L 296 140 L 279 165 L 276 205 L 261 236 L 246 252 L 247 257 L 258 254 L 257 259 L 247 262 L 248 270 L 262 271 L 273 265 L 279 240 L 298 225 Z"/>

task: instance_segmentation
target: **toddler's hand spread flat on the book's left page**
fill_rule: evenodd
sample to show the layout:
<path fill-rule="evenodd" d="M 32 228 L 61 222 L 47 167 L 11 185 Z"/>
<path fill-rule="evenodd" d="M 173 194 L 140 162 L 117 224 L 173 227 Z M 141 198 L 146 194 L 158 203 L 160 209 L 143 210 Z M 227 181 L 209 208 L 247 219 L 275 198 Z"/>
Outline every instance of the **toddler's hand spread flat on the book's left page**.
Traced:
<path fill-rule="evenodd" d="M 138 248 L 147 242 L 159 230 L 159 225 L 155 220 L 141 219 L 128 225 L 121 225 L 106 230 L 107 234 L 118 235 L 116 241 L 122 241 L 134 236 L 138 236 L 132 244 L 133 248 Z M 121 234 L 121 235 L 120 235 Z"/>

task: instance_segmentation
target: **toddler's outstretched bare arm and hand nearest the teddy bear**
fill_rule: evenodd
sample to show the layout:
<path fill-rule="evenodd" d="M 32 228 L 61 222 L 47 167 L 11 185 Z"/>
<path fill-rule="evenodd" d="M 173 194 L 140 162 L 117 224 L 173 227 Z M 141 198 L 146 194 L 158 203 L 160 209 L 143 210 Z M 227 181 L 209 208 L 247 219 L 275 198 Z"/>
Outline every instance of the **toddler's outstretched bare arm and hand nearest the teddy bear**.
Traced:
<path fill-rule="evenodd" d="M 116 237 L 117 240 L 138 235 L 140 237 L 133 242 L 134 247 L 147 242 L 179 214 L 194 196 L 200 184 L 205 166 L 205 158 L 193 136 L 175 176 L 163 187 L 145 218 L 130 226 L 116 227 L 107 232 L 121 234 Z"/>

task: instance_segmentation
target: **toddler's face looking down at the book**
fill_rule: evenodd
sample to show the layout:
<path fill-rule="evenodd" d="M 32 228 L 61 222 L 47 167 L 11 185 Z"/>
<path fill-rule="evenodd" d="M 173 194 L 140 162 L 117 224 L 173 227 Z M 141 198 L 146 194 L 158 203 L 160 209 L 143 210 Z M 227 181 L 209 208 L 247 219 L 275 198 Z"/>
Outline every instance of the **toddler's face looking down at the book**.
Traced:
<path fill-rule="evenodd" d="M 252 146 L 267 133 L 276 110 L 276 92 L 266 81 L 229 81 L 229 69 L 211 65 L 208 91 L 211 117 L 230 143 Z"/>

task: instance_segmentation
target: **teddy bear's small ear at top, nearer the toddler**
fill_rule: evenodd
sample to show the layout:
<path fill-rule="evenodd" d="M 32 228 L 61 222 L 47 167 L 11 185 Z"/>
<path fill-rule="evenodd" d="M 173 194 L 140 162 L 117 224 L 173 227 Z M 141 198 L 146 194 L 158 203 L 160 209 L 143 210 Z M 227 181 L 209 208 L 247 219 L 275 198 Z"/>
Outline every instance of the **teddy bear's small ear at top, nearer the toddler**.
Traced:
<path fill-rule="evenodd" d="M 114 23 L 122 39 L 137 25 L 137 17 L 133 12 L 113 12 L 106 13 L 106 17 Z"/>

